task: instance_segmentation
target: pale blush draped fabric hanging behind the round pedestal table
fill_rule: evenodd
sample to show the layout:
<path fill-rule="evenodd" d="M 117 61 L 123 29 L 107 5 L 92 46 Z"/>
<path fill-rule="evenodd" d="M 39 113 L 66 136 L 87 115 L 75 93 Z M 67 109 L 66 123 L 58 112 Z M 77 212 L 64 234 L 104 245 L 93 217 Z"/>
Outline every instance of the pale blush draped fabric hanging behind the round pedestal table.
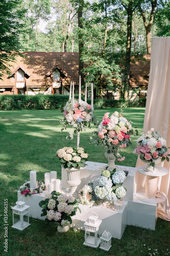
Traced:
<path fill-rule="evenodd" d="M 143 132 L 154 128 L 170 146 L 170 37 L 153 37 L 151 51 L 151 67 L 145 108 Z M 170 153 L 170 150 L 168 150 Z M 138 158 L 136 167 L 143 165 Z M 158 165 L 168 169 L 168 174 L 159 179 L 158 188 L 170 202 L 170 162 L 166 160 Z M 136 174 L 136 189 L 144 188 L 145 177 Z M 164 218 L 163 218 L 164 219 Z"/>

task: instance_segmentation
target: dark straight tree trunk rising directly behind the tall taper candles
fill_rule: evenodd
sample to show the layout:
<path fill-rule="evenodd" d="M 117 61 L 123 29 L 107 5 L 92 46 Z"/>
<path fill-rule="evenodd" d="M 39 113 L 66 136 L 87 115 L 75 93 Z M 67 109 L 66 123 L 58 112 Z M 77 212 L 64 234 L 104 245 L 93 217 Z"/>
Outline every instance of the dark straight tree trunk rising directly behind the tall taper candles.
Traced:
<path fill-rule="evenodd" d="M 83 17 L 83 6 L 84 6 L 84 0 L 80 0 L 79 10 L 78 10 L 78 27 L 80 29 L 83 28 L 83 24 L 82 24 L 82 20 L 81 20 L 81 18 Z M 79 31 L 79 76 L 81 76 L 81 84 L 84 84 L 84 76 L 82 74 L 84 65 L 81 60 L 81 57 L 83 55 L 82 48 L 83 48 L 83 41 L 82 41 L 82 34 L 81 34 L 81 30 L 80 30 Z"/>

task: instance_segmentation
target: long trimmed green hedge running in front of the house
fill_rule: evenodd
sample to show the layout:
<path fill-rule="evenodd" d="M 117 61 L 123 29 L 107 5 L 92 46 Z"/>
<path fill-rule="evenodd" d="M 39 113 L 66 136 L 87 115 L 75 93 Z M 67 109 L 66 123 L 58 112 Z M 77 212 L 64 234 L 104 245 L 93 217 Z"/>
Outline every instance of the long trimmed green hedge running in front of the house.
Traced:
<path fill-rule="evenodd" d="M 78 95 L 75 98 L 78 99 Z M 0 110 L 52 110 L 63 109 L 69 95 L 0 95 Z M 84 97 L 82 97 L 84 100 Z M 90 104 L 91 100 L 87 99 Z M 94 109 L 102 108 L 127 108 L 128 102 L 125 99 L 95 99 Z"/>

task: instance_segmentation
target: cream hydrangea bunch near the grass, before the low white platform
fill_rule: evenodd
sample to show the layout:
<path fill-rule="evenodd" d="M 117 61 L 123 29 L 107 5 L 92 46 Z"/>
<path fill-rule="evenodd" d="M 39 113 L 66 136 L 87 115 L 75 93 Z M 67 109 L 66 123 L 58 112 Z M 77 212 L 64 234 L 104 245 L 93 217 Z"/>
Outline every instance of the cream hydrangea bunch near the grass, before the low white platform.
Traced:
<path fill-rule="evenodd" d="M 76 215 L 78 209 L 80 210 L 78 204 L 71 195 L 60 194 L 56 191 L 47 194 L 39 202 L 39 206 L 42 208 L 41 216 L 46 217 L 45 223 L 50 225 L 58 223 L 62 227 L 72 223 L 71 217 Z"/>

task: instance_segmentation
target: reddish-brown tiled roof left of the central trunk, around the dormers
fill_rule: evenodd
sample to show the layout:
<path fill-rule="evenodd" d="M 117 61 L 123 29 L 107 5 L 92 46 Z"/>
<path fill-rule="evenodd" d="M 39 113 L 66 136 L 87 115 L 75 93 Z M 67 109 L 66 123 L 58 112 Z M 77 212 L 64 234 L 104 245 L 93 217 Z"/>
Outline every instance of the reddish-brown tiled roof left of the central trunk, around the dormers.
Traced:
<path fill-rule="evenodd" d="M 17 57 L 15 63 L 10 63 L 13 67 L 11 73 L 20 65 L 30 74 L 27 79 L 27 86 L 45 86 L 51 84 L 51 79 L 46 77 L 56 65 L 65 77 L 66 84 L 74 81 L 75 85 L 79 83 L 79 53 L 68 52 L 21 52 L 26 57 Z M 56 66 L 57 67 L 57 66 Z M 0 80 L 0 86 L 12 87 L 15 84 L 14 78 L 5 77 L 4 81 Z"/>

